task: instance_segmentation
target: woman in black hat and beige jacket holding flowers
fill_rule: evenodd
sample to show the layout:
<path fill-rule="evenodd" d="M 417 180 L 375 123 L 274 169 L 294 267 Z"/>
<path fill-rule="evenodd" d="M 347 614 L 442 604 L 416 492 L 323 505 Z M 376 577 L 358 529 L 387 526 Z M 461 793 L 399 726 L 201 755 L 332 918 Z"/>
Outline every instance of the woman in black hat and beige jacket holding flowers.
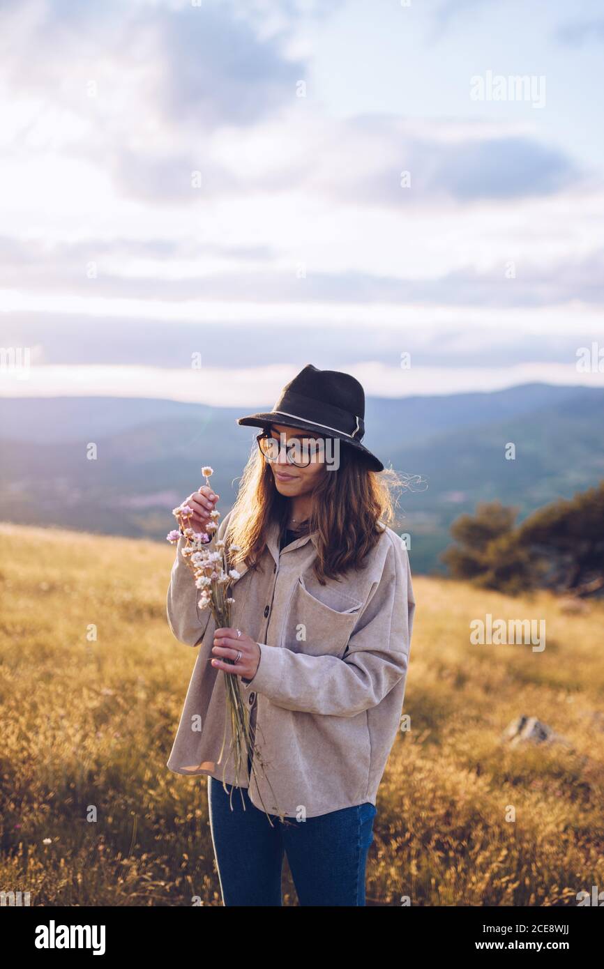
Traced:
<path fill-rule="evenodd" d="M 239 419 L 263 432 L 217 532 L 238 548 L 232 628 L 214 629 L 199 609 L 178 539 L 168 620 L 201 649 L 168 766 L 208 775 L 225 905 L 281 905 L 284 853 L 301 905 L 365 905 L 415 602 L 406 548 L 386 525 L 389 472 L 378 477 L 384 466 L 361 443 L 364 418 L 354 377 L 308 364 L 272 411 Z M 207 486 L 186 499 L 196 531 L 217 499 Z M 240 677 L 267 772 L 250 772 L 248 759 L 233 797 L 233 766 L 223 774 L 219 762 L 226 676 Z"/>

